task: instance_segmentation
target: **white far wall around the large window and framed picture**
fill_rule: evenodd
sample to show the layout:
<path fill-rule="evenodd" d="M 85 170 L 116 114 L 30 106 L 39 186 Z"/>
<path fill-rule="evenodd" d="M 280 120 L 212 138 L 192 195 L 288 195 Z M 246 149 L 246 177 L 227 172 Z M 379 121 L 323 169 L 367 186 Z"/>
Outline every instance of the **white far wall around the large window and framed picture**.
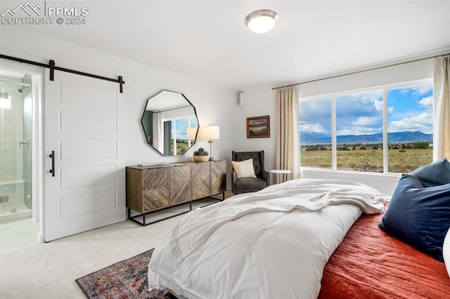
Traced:
<path fill-rule="evenodd" d="M 433 68 L 435 60 L 433 58 L 411 62 L 383 69 L 351 74 L 316 81 L 310 84 L 298 86 L 300 97 L 312 95 L 323 95 L 326 93 L 335 93 L 339 91 L 352 91 L 359 88 L 368 88 L 386 84 L 396 84 L 400 82 L 413 81 L 418 79 L 427 79 L 433 77 Z M 252 88 L 245 93 L 245 107 L 235 107 L 236 119 L 242 121 L 241 126 L 236 127 L 236 133 L 242 142 L 245 150 L 261 148 L 266 151 L 266 168 L 274 167 L 274 124 L 275 124 L 275 92 L 271 90 L 274 86 L 259 86 Z M 245 117 L 255 117 L 270 115 L 271 117 L 271 138 L 258 138 L 258 140 L 245 140 Z M 244 136 L 244 137 L 242 137 Z M 375 187 L 386 194 L 392 194 L 399 180 L 399 174 L 384 175 L 379 173 L 356 173 L 345 171 L 314 170 L 303 169 L 302 178 L 334 178 L 339 180 L 356 180 L 364 182 L 371 187 Z"/>

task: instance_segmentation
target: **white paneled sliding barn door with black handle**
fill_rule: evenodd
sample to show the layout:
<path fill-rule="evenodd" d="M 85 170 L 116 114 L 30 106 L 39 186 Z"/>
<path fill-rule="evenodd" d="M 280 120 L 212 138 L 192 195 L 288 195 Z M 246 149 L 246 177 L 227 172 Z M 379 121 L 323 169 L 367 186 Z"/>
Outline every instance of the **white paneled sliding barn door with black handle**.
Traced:
<path fill-rule="evenodd" d="M 46 241 L 125 220 L 123 104 L 118 84 L 46 70 Z"/>

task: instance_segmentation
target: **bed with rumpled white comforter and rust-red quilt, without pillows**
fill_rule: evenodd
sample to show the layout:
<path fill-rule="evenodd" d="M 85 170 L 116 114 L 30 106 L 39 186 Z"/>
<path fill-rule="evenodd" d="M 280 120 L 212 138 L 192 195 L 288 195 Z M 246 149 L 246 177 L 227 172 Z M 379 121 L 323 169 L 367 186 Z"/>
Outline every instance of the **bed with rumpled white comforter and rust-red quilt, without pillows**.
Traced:
<path fill-rule="evenodd" d="M 300 179 L 195 210 L 155 248 L 149 287 L 179 298 L 450 298 L 444 263 L 378 228 L 388 199 L 358 182 Z"/>

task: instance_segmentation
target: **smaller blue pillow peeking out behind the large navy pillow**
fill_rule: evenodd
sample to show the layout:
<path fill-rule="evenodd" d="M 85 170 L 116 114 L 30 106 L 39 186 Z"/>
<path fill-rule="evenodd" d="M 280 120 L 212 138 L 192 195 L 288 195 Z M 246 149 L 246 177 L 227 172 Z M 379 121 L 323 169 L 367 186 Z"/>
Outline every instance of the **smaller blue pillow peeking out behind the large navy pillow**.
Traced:
<path fill-rule="evenodd" d="M 411 173 L 423 183 L 425 187 L 450 183 L 450 163 L 446 158 L 434 161 L 417 168 Z"/>

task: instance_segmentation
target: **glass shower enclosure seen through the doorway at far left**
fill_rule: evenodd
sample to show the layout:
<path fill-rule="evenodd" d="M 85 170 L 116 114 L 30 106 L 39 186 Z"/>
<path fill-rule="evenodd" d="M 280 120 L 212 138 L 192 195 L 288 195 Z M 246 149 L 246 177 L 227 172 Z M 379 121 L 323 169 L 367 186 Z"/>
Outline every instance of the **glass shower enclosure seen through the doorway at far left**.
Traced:
<path fill-rule="evenodd" d="M 0 76 L 0 222 L 31 217 L 32 79 Z"/>

